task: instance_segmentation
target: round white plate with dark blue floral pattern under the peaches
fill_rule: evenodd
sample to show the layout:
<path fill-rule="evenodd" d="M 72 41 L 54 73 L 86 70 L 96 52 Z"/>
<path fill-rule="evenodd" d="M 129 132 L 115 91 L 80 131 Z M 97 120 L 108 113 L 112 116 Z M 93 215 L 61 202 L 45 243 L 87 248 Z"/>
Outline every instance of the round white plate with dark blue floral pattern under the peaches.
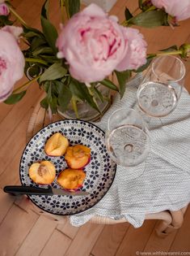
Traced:
<path fill-rule="evenodd" d="M 70 141 L 70 145 L 82 144 L 91 148 L 91 162 L 84 167 L 87 176 L 84 180 L 82 191 L 87 191 L 87 196 L 28 196 L 36 206 L 55 215 L 74 215 L 95 206 L 107 193 L 112 185 L 116 173 L 116 163 L 112 162 L 105 145 L 104 132 L 86 121 L 65 119 L 42 128 L 32 137 L 23 151 L 20 160 L 20 180 L 23 185 L 44 187 L 35 184 L 28 175 L 32 163 L 41 160 L 51 161 L 57 170 L 57 175 L 67 167 L 64 156 L 50 157 L 44 153 L 44 144 L 53 133 L 61 132 Z M 57 180 L 53 181 L 53 188 L 60 189 Z"/>

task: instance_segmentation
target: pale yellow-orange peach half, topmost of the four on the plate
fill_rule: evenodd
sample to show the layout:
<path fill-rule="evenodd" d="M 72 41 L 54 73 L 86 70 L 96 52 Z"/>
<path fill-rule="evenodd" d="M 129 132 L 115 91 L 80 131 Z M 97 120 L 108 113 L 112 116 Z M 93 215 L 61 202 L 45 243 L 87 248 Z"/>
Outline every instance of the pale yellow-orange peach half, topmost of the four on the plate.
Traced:
<path fill-rule="evenodd" d="M 61 156 L 69 145 L 69 141 L 61 133 L 57 132 L 51 136 L 44 145 L 44 151 L 49 156 Z"/>

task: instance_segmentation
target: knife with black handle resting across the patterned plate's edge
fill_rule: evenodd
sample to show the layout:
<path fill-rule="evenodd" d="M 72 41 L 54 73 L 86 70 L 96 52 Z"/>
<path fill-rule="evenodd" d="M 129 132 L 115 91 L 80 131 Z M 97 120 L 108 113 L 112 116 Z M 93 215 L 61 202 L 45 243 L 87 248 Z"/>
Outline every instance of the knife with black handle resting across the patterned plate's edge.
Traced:
<path fill-rule="evenodd" d="M 48 189 L 43 188 L 36 188 L 36 187 L 30 187 L 30 186 L 5 186 L 4 187 L 5 193 L 12 193 L 14 195 L 19 194 L 27 194 L 27 195 L 47 195 L 47 196 L 53 196 L 53 195 L 64 195 L 64 196 L 86 196 L 89 194 L 86 191 L 65 191 L 64 189 L 53 189 L 49 186 Z"/>

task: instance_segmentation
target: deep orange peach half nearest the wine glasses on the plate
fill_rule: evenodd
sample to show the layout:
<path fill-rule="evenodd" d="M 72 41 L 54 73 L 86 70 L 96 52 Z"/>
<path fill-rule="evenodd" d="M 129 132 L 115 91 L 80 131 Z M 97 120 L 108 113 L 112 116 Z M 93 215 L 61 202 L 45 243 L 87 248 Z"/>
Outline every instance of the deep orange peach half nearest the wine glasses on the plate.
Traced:
<path fill-rule="evenodd" d="M 65 161 L 72 169 L 81 169 L 91 160 L 91 149 L 86 145 L 73 145 L 66 149 Z"/>

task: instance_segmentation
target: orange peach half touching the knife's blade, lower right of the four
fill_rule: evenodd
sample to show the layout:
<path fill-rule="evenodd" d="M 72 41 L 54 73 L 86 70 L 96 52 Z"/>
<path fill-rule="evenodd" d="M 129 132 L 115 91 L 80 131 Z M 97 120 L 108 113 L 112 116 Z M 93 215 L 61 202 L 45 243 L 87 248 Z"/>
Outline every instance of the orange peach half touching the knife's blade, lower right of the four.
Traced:
<path fill-rule="evenodd" d="M 82 170 L 65 169 L 57 177 L 57 183 L 64 189 L 76 190 L 82 187 L 85 177 Z"/>

